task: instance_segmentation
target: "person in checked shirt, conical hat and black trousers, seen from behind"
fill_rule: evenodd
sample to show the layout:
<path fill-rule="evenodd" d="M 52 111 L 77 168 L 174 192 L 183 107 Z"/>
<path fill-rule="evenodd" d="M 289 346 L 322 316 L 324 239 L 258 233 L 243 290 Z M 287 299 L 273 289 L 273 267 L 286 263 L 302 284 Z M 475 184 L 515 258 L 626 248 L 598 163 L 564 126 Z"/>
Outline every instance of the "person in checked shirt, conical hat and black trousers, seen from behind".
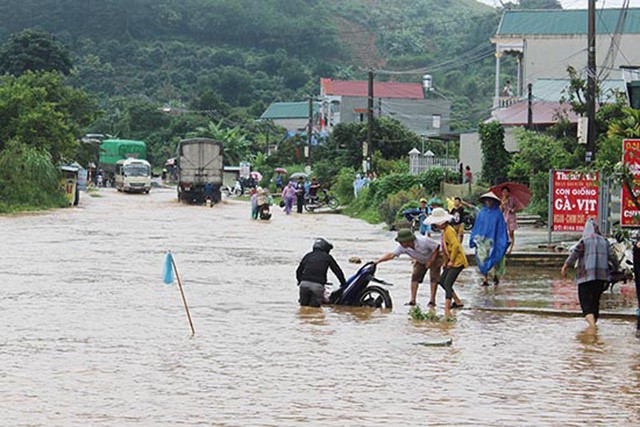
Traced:
<path fill-rule="evenodd" d="M 587 219 L 582 239 L 573 247 L 564 262 L 560 273 L 567 275 L 567 269 L 578 261 L 575 283 L 578 285 L 578 298 L 585 320 L 589 324 L 588 332 L 595 333 L 596 322 L 600 314 L 600 297 L 611 280 L 609 263 L 615 265 L 615 257 L 609 241 L 600 235 L 593 218 Z"/>

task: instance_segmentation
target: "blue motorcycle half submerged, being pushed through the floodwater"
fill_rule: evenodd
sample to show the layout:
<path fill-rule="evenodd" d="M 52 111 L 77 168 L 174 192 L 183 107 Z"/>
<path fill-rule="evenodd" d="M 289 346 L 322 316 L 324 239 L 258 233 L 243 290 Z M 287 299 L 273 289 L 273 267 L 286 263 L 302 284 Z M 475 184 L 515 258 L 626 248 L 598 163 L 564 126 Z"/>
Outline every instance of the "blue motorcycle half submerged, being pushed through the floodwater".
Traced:
<path fill-rule="evenodd" d="M 325 292 L 328 296 L 325 298 L 325 304 L 390 310 L 393 308 L 393 303 L 386 287 L 393 285 L 378 279 L 375 272 L 376 264 L 366 263 L 347 279 L 345 286 L 340 286 L 335 290 L 327 289 Z M 372 284 L 372 282 L 376 284 Z M 325 286 L 333 285 L 327 283 Z"/>

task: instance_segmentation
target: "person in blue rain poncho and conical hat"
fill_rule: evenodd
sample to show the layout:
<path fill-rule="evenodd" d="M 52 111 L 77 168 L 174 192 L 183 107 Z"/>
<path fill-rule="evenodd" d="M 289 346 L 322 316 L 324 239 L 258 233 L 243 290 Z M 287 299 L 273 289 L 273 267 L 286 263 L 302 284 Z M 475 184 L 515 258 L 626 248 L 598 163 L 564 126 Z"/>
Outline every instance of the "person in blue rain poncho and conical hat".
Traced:
<path fill-rule="evenodd" d="M 500 199 L 492 192 L 480 196 L 482 209 L 471 230 L 469 247 L 476 249 L 476 261 L 484 276 L 482 286 L 489 286 L 489 272 L 493 269 L 493 284 L 500 283 L 504 274 L 505 254 L 509 246 L 507 223 L 500 211 Z"/>

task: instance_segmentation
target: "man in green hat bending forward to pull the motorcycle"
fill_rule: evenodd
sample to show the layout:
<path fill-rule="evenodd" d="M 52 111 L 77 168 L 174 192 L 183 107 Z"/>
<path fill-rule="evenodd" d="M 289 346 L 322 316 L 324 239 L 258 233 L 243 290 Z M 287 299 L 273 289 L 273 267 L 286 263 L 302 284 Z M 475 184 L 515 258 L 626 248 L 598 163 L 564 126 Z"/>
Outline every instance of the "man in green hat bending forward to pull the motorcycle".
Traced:
<path fill-rule="evenodd" d="M 416 235 L 409 229 L 398 231 L 396 236 L 398 246 L 393 252 L 386 253 L 378 258 L 375 263 L 390 261 L 402 254 L 409 255 L 413 260 L 413 271 L 411 273 L 411 299 L 405 305 L 416 305 L 418 287 L 424 281 L 424 276 L 429 270 L 429 282 L 431 285 L 431 296 L 429 307 L 436 305 L 436 291 L 440 280 L 440 268 L 442 267 L 442 255 L 440 245 L 427 236 Z"/>

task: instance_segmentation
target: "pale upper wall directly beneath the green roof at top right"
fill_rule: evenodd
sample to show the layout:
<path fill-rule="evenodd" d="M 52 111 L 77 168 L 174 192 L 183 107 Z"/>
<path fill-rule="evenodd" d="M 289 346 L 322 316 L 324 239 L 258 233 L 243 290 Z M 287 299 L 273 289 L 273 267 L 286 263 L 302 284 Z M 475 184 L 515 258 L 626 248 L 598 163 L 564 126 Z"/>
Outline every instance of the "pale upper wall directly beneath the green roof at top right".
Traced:
<path fill-rule="evenodd" d="M 611 46 L 611 36 L 596 38 L 596 64 L 600 68 Z M 568 78 L 567 66 L 581 71 L 587 66 L 587 36 L 529 36 L 524 43 L 523 88 L 538 78 Z M 620 65 L 640 64 L 640 34 L 620 37 L 620 51 L 616 55 L 611 77 L 621 78 Z M 511 81 L 515 81 L 515 76 Z"/>

